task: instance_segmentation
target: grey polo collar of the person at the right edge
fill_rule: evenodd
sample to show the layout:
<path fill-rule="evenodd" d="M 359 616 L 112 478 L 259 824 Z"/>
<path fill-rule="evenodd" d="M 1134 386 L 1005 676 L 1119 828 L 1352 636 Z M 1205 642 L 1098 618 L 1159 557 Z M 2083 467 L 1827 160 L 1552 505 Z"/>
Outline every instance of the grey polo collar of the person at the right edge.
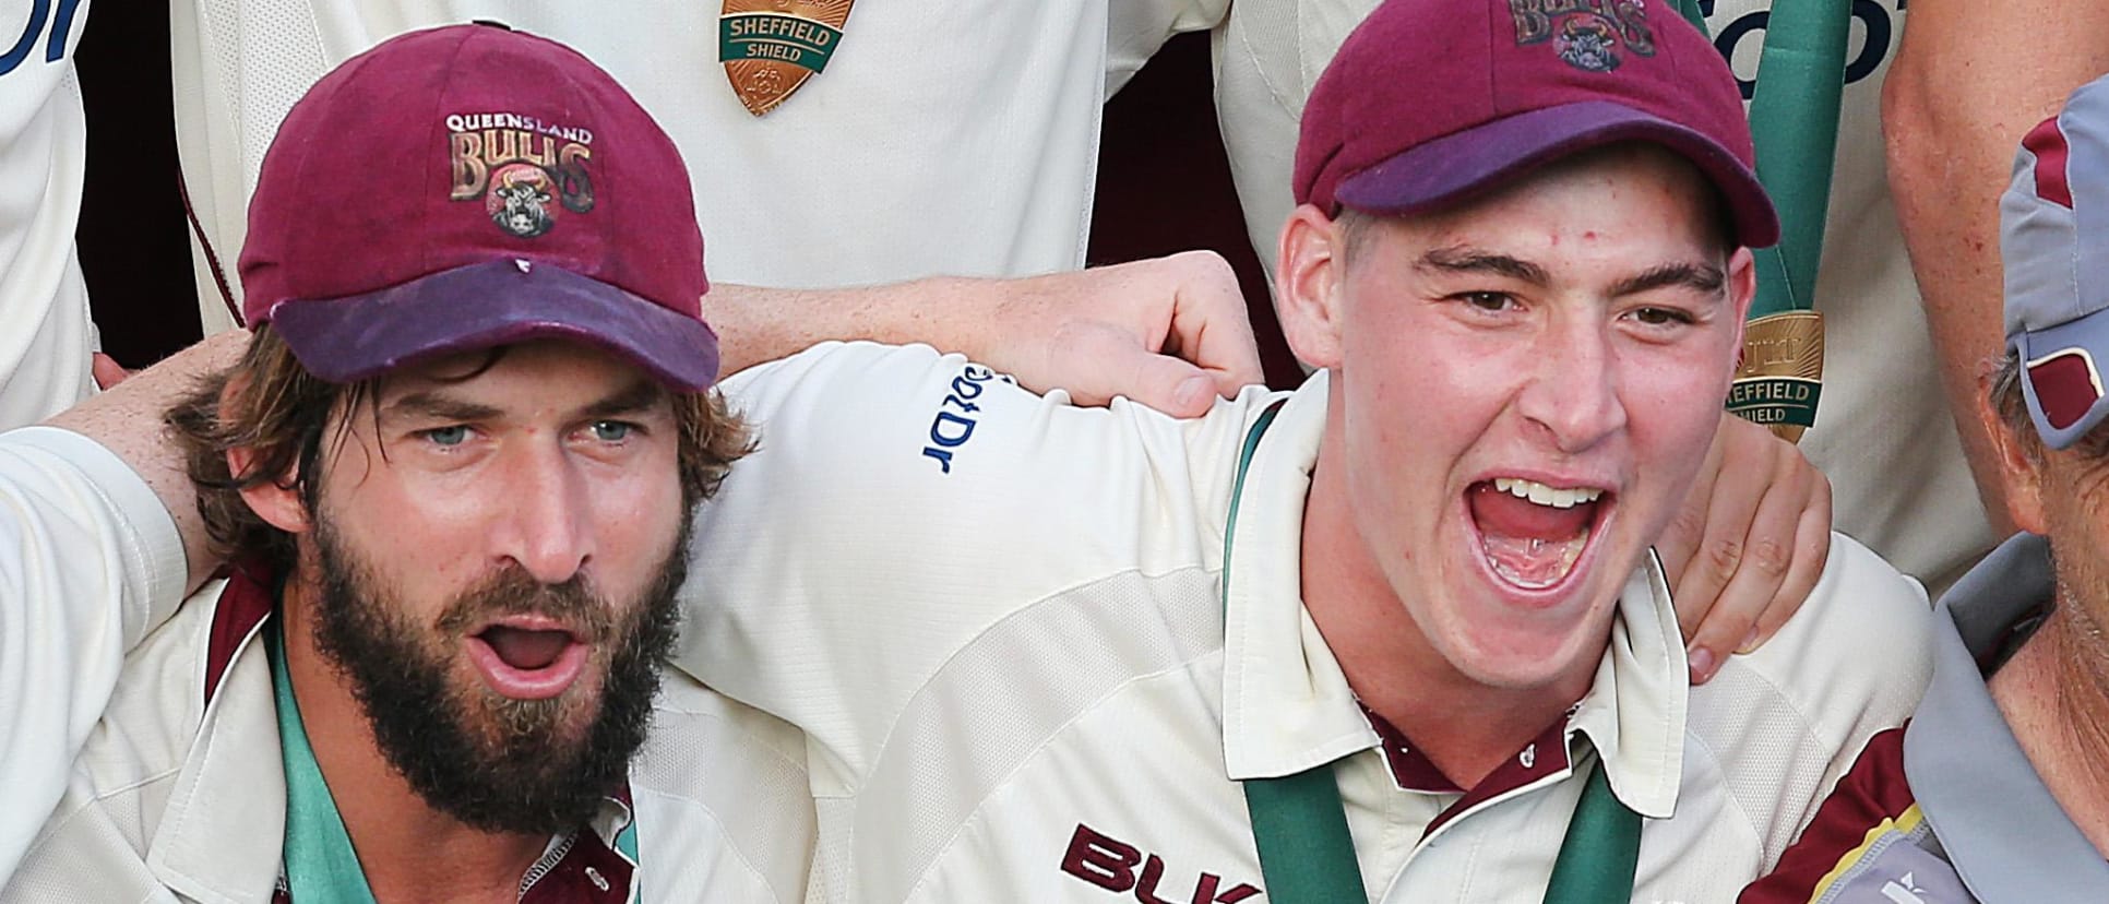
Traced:
<path fill-rule="evenodd" d="M 1978 668 L 2056 592 L 2050 544 L 2016 533 L 1940 598 L 1934 676 L 1904 727 L 1904 780 L 1955 872 L 1987 902 L 2094 902 L 2109 864 L 2035 775 Z"/>

